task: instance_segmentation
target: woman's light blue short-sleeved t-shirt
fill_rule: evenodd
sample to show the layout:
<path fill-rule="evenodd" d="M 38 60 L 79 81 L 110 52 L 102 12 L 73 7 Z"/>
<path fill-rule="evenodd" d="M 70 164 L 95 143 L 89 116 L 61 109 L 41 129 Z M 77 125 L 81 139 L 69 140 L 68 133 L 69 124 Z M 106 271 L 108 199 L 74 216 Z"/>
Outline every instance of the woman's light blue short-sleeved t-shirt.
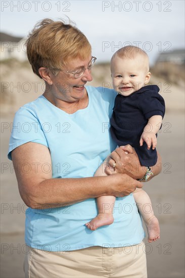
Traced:
<path fill-rule="evenodd" d="M 116 92 L 87 86 L 85 109 L 68 114 L 43 96 L 21 107 L 15 115 L 9 155 L 18 146 L 35 142 L 50 149 L 53 178 L 93 176 L 103 160 L 116 148 L 109 131 Z M 35 167 L 35 165 L 33 165 Z M 67 207 L 26 211 L 25 241 L 32 248 L 70 251 L 90 246 L 120 247 L 139 244 L 144 238 L 140 214 L 133 195 L 116 198 L 114 223 L 95 231 L 85 223 L 98 213 L 96 199 Z"/>

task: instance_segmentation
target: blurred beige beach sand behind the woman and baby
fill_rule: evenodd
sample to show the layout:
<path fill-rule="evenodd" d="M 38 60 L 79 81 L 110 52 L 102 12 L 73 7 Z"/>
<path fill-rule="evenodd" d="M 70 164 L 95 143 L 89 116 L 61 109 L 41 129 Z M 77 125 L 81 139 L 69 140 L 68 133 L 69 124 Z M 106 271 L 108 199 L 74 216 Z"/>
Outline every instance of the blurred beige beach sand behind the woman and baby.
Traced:
<path fill-rule="evenodd" d="M 107 79 L 110 80 L 110 79 Z M 101 85 L 98 81 L 94 84 Z M 163 83 L 164 84 L 164 83 Z M 164 87 L 164 86 L 163 86 Z M 162 172 L 144 189 L 152 199 L 160 222 L 161 238 L 146 243 L 148 276 L 151 278 L 184 277 L 184 90 L 176 85 L 163 92 L 167 112 L 158 136 L 157 149 L 162 156 Z M 23 96 L 23 95 L 22 95 Z M 35 96 L 29 98 L 34 99 Z M 28 99 L 29 99 L 28 98 Z M 3 109 L 1 133 L 1 277 L 24 277 L 24 211 L 11 161 L 7 159 L 10 128 L 18 105 L 30 101 L 16 100 L 8 113 Z M 4 104 L 7 105 L 6 103 Z M 7 168 L 7 169 L 6 169 Z"/>

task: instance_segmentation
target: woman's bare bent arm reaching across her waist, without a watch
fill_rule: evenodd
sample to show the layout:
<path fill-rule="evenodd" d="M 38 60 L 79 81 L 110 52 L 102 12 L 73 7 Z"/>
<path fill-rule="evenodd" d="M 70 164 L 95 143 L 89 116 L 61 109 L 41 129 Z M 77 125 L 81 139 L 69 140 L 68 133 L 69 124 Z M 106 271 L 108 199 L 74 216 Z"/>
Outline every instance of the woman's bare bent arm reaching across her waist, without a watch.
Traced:
<path fill-rule="evenodd" d="M 14 149 L 12 160 L 20 195 L 34 209 L 62 207 L 105 195 L 123 197 L 142 187 L 141 182 L 126 174 L 52 178 L 50 151 L 37 143 L 29 142 Z"/>

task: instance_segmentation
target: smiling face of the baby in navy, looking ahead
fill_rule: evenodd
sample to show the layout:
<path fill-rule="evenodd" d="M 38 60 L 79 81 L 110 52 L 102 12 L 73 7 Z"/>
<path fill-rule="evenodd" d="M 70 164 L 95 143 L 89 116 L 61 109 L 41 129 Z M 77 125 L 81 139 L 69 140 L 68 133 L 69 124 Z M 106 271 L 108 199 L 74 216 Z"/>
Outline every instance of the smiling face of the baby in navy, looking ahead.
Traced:
<path fill-rule="evenodd" d="M 125 97 L 141 89 L 150 80 L 147 62 L 140 55 L 134 59 L 114 57 L 111 75 L 114 89 Z"/>

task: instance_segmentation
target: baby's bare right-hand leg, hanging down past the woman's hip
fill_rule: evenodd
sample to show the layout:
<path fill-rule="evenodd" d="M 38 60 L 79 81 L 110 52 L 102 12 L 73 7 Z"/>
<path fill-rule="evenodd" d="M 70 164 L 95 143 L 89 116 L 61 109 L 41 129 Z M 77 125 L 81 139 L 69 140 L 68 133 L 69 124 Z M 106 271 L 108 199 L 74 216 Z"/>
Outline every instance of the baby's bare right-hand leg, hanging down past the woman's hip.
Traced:
<path fill-rule="evenodd" d="M 150 197 L 143 189 L 136 189 L 133 196 L 147 227 L 148 242 L 158 240 L 160 238 L 159 221 L 154 215 Z"/>

